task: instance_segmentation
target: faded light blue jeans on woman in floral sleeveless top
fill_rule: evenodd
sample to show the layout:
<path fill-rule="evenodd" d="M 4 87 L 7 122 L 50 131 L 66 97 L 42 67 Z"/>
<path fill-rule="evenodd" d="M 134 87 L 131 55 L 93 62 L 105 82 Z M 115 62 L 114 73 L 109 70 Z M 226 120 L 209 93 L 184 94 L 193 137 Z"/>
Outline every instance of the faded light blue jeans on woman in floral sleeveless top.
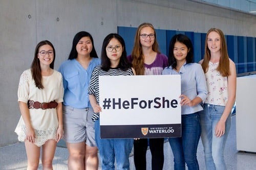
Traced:
<path fill-rule="evenodd" d="M 224 135 L 216 137 L 215 127 L 222 116 L 225 106 L 204 104 L 203 109 L 204 110 L 199 112 L 199 116 L 202 128 L 201 139 L 204 147 L 206 169 L 226 169 L 224 148 L 231 127 L 231 114 L 227 117 Z"/>

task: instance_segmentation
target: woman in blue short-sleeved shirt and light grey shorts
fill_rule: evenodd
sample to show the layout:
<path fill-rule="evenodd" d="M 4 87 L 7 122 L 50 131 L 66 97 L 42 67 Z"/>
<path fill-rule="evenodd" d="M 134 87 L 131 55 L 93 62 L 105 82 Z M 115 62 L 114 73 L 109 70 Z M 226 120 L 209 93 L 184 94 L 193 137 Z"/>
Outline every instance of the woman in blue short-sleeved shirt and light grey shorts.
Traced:
<path fill-rule="evenodd" d="M 92 71 L 99 64 L 92 36 L 84 31 L 77 33 L 69 59 L 59 67 L 64 86 L 63 138 L 69 150 L 69 169 L 98 169 L 88 86 Z"/>

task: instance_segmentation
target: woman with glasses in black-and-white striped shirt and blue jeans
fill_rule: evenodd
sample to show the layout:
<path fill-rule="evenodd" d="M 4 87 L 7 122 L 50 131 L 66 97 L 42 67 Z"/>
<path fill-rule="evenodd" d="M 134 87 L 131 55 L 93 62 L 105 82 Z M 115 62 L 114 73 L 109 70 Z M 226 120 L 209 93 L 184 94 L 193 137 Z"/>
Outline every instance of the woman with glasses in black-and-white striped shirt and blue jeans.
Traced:
<path fill-rule="evenodd" d="M 95 140 L 99 149 L 102 170 L 130 169 L 129 155 L 133 148 L 133 139 L 100 139 L 99 127 L 99 76 L 132 76 L 134 69 L 127 61 L 123 38 L 118 34 L 109 34 L 105 37 L 101 50 L 101 65 L 93 70 L 88 93 L 90 103 L 95 114 Z"/>

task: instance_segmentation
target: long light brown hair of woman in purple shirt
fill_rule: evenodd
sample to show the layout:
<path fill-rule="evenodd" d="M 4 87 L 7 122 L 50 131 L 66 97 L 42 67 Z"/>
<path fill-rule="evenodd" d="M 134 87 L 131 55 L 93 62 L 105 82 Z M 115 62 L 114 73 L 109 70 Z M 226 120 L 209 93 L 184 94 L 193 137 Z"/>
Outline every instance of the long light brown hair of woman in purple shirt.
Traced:
<path fill-rule="evenodd" d="M 155 41 L 152 45 L 152 50 L 154 52 L 160 53 L 158 48 L 159 45 L 157 43 L 157 36 L 156 36 L 156 30 L 154 29 L 153 25 L 151 23 L 141 23 L 141 25 L 138 27 L 134 39 L 134 46 L 133 46 L 133 51 L 132 51 L 132 64 L 135 69 L 136 75 L 144 75 L 145 74 L 145 67 L 144 67 L 144 58 L 142 54 L 142 47 L 140 44 L 140 31 L 145 28 L 145 27 L 150 27 L 154 30 L 155 34 Z"/>

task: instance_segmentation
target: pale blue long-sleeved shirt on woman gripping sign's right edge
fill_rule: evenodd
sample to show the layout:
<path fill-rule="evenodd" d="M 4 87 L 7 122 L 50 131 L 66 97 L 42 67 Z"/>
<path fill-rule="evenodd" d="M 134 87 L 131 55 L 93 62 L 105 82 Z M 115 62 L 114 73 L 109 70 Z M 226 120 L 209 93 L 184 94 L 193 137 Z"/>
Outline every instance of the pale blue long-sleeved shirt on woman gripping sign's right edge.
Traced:
<path fill-rule="evenodd" d="M 172 66 L 164 68 L 163 75 L 180 75 L 181 76 L 181 94 L 186 95 L 190 100 L 198 96 L 204 102 L 207 97 L 207 85 L 202 66 L 198 63 L 184 64 L 180 71 L 177 72 Z M 182 106 L 181 114 L 191 114 L 203 110 L 200 104 L 193 107 Z"/>

